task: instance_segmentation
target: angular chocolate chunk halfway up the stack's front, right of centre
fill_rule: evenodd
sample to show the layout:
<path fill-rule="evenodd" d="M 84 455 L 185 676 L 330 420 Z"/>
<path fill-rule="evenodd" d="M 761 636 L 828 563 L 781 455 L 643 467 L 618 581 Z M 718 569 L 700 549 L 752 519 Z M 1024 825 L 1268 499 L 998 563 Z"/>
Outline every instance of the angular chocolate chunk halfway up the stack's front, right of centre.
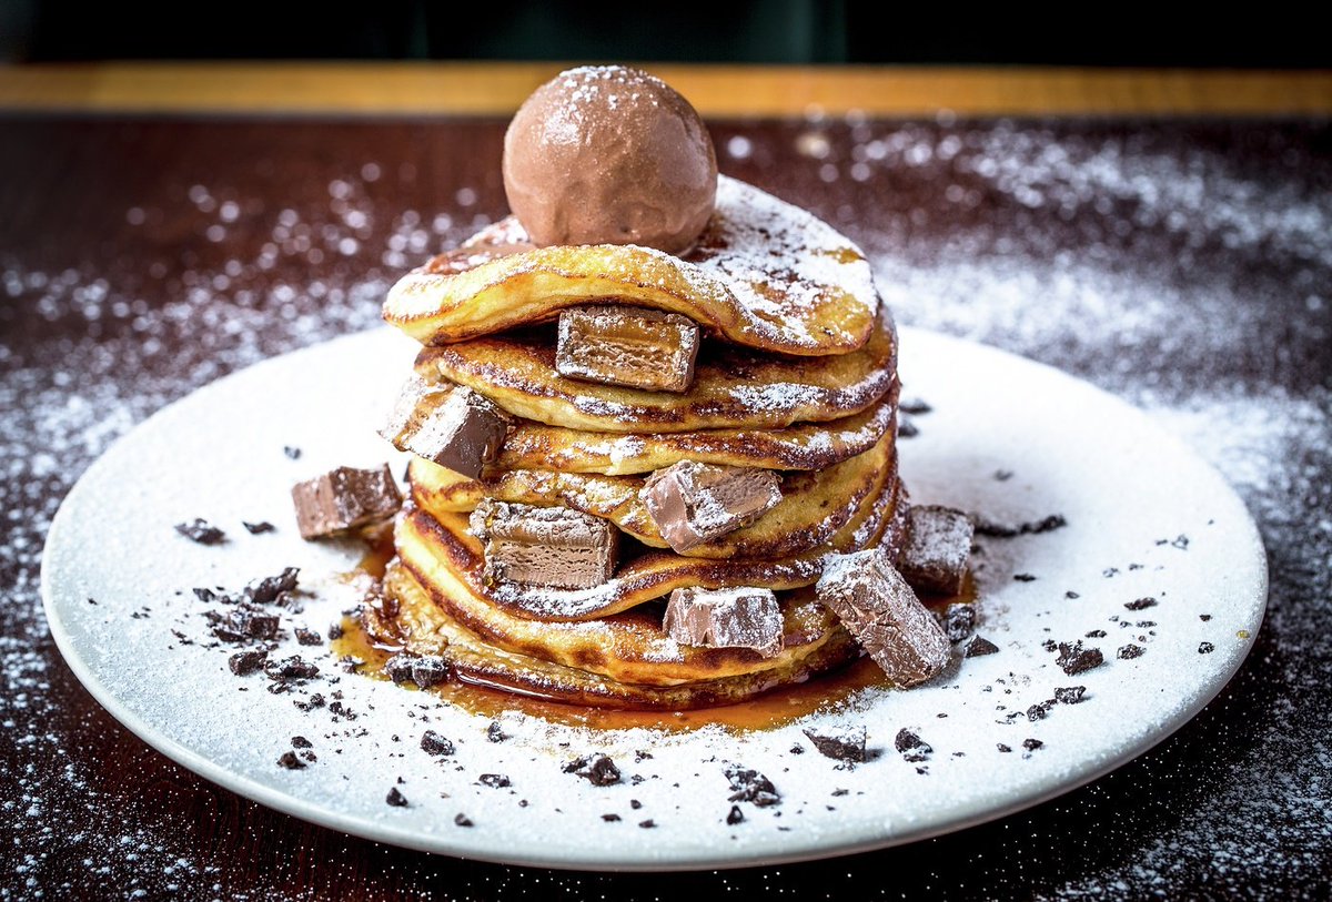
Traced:
<path fill-rule="evenodd" d="M 749 526 L 782 500 L 771 470 L 681 460 L 658 470 L 639 492 L 647 514 L 674 551 Z"/>

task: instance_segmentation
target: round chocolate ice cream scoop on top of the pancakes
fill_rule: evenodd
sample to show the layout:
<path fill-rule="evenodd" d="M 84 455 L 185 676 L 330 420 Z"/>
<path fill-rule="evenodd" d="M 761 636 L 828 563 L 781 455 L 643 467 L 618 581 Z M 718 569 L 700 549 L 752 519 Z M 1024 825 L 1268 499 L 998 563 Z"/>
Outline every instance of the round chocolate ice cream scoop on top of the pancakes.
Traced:
<path fill-rule="evenodd" d="M 537 245 L 643 245 L 678 254 L 717 197 L 717 153 L 673 88 L 582 67 L 537 88 L 503 140 L 509 206 Z"/>

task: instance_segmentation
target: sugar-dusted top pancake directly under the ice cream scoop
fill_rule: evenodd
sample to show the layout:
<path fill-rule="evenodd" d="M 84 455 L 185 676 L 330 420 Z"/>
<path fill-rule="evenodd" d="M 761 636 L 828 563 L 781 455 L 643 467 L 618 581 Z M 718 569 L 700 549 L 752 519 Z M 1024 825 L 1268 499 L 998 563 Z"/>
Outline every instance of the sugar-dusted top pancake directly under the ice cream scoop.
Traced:
<path fill-rule="evenodd" d="M 497 243 L 526 241 L 514 221 L 494 233 Z M 848 238 L 722 176 L 713 218 L 683 259 L 635 245 L 537 247 L 464 271 L 449 258 L 402 277 L 384 318 L 424 345 L 444 345 L 590 301 L 679 313 L 729 342 L 795 355 L 859 349 L 876 313 L 870 265 Z"/>

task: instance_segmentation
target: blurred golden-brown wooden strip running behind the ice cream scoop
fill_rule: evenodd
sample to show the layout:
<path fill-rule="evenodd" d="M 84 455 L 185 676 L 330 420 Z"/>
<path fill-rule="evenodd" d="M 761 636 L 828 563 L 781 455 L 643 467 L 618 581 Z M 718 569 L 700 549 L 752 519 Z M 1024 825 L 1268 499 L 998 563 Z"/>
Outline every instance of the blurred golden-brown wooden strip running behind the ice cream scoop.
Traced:
<path fill-rule="evenodd" d="M 0 67 L 0 112 L 509 116 L 558 63 Z M 643 64 L 714 118 L 1332 116 L 1329 71 Z"/>

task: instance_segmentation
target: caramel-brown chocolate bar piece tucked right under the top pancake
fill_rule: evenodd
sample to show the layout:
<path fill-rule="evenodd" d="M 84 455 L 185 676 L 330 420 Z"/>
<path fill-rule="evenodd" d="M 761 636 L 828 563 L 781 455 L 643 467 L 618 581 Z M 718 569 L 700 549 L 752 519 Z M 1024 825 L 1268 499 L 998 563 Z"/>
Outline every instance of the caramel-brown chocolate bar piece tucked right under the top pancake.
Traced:
<path fill-rule="evenodd" d="M 649 391 L 686 391 L 694 382 L 698 326 L 689 317 L 639 307 L 559 311 L 559 375 Z"/>

